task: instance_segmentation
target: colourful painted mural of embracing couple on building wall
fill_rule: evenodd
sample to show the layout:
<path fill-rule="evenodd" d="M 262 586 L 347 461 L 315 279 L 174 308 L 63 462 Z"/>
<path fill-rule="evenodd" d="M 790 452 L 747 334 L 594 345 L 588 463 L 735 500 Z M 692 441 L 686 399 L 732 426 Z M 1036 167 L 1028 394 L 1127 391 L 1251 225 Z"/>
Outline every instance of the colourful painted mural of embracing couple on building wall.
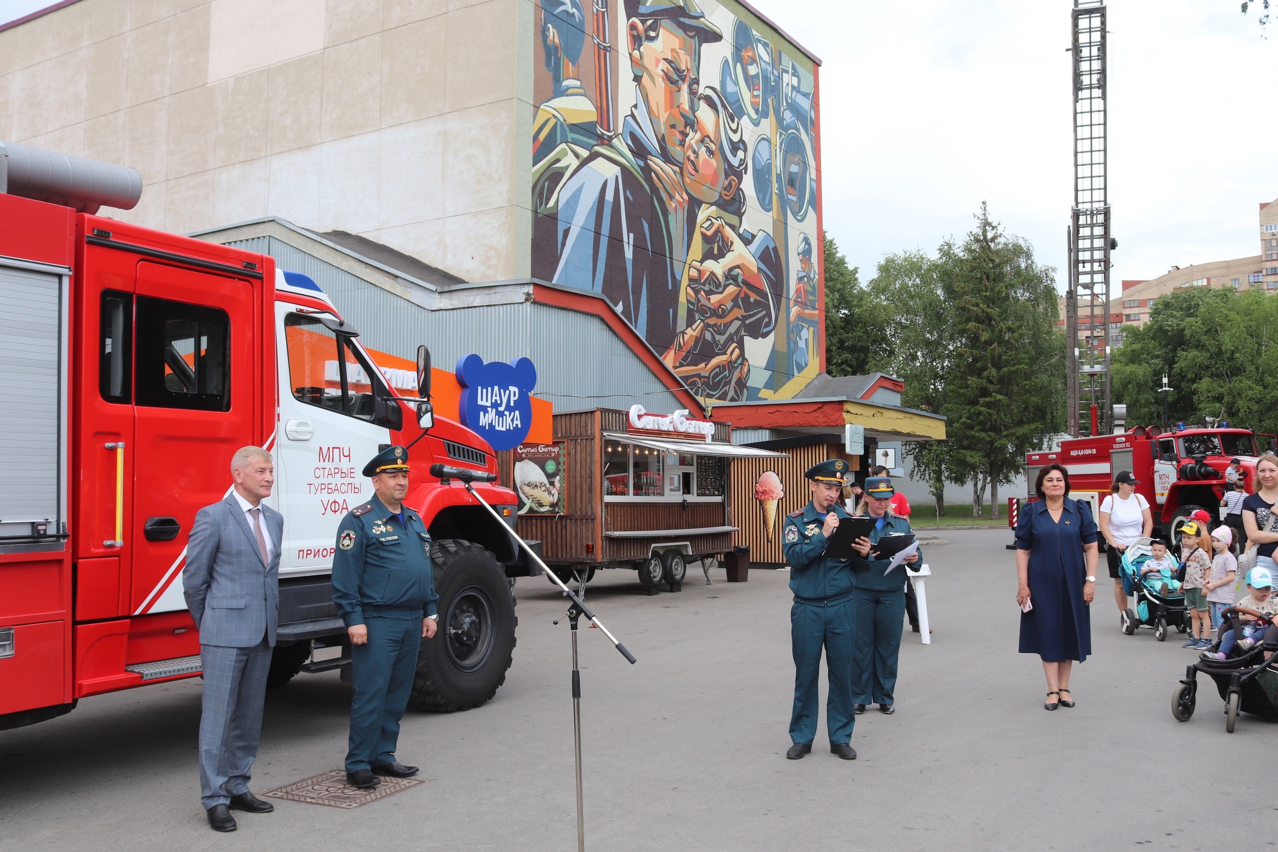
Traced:
<path fill-rule="evenodd" d="M 819 369 L 812 65 L 713 0 L 539 0 L 533 276 L 602 294 L 707 400 Z"/>

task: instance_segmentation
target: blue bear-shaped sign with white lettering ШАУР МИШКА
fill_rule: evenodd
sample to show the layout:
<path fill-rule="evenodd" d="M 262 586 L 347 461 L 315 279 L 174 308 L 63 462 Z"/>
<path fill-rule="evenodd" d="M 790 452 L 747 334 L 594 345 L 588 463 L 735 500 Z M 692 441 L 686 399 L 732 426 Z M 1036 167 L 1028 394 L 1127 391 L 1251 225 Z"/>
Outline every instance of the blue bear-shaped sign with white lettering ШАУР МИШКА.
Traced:
<path fill-rule="evenodd" d="M 529 399 L 537 386 L 537 368 L 527 358 L 511 363 L 484 363 L 478 355 L 458 359 L 461 392 L 461 423 L 487 441 L 493 450 L 514 450 L 533 425 Z"/>

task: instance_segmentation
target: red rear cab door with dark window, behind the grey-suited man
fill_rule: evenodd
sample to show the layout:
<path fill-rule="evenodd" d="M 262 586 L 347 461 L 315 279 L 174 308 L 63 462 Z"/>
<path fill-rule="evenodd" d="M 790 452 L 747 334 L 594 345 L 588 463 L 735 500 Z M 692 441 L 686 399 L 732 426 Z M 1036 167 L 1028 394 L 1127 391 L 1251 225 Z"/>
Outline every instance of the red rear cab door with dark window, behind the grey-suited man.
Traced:
<path fill-rule="evenodd" d="M 134 301 L 134 614 L 185 609 L 179 567 L 196 512 L 231 487 L 261 411 L 249 281 L 143 261 Z M 176 521 L 176 526 L 174 526 Z"/>

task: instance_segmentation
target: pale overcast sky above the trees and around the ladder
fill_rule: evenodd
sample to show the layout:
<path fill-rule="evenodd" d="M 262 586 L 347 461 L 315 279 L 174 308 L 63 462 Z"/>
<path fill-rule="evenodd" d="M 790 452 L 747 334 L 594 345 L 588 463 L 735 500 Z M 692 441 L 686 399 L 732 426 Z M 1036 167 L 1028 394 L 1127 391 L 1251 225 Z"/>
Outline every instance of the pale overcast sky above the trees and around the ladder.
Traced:
<path fill-rule="evenodd" d="M 824 60 L 826 230 L 863 278 L 962 238 L 988 201 L 1065 278 L 1072 0 L 754 0 Z M 0 22 L 47 5 L 0 0 Z M 1122 278 L 1259 252 L 1278 198 L 1278 24 L 1238 0 L 1109 4 L 1109 203 Z"/>

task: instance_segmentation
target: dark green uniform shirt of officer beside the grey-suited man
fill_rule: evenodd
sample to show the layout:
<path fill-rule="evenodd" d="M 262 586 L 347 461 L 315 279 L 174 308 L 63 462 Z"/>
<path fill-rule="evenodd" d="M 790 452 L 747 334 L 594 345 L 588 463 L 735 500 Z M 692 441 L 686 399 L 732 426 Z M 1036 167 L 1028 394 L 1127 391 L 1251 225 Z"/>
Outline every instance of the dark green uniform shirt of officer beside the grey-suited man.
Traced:
<path fill-rule="evenodd" d="M 367 616 L 422 618 L 436 613 L 431 534 L 403 507 L 404 522 L 377 497 L 350 510 L 337 526 L 332 600 L 348 627 Z"/>

